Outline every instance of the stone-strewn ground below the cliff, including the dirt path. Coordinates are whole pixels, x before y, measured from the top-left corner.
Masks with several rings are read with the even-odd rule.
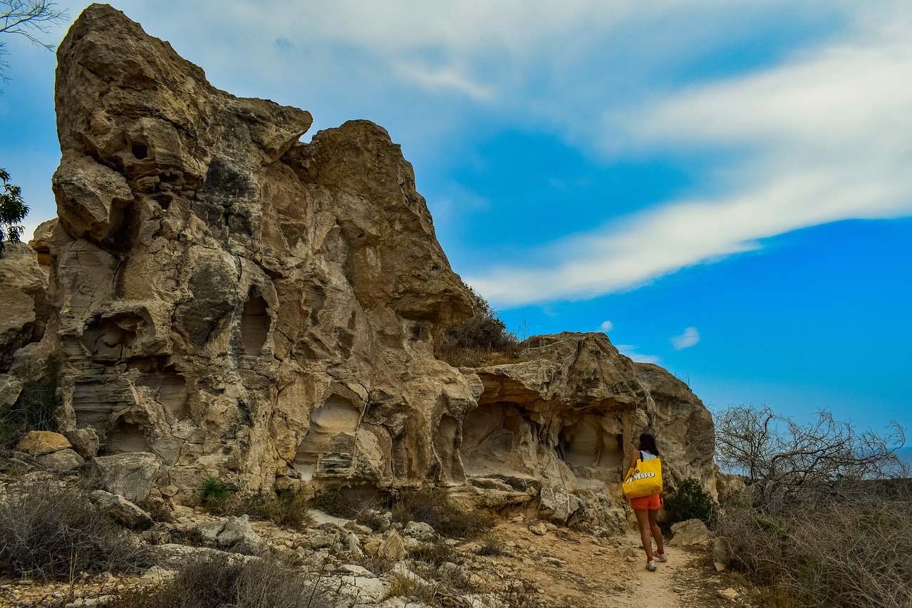
[[[3,491],[15,487],[15,482],[7,484]],[[441,538],[420,522],[388,527],[389,513],[379,511],[375,529],[321,511],[310,514],[308,525],[288,529],[247,516],[178,508],[158,517],[150,529],[133,532],[150,545],[158,564],[141,575],[73,572],[69,580],[55,583],[0,579],[0,606],[119,608],[124,605],[119,596],[131,590],[168,584],[181,561],[223,551],[239,561],[271,555],[294,564],[317,582],[325,602],[320,605],[334,608],[751,605],[750,593],[734,575],[716,571],[705,544],[671,540],[668,562],[647,571],[633,529],[597,535],[513,512],[465,540]]]

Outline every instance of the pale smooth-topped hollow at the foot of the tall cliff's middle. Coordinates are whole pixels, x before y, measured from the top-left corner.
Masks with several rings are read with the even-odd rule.
[[[310,413],[310,428],[295,454],[295,470],[307,481],[321,471],[331,472],[350,466],[361,412],[345,397],[331,395],[326,403]],[[350,448],[349,448],[350,446]]]

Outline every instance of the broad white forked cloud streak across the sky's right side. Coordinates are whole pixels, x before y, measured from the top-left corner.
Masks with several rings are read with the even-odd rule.
[[[714,194],[671,200],[565,238],[546,267],[493,267],[469,281],[503,305],[586,299],[758,247],[764,237],[912,213],[912,9],[861,21],[855,39],[739,78],[610,113],[610,145],[721,152]],[[544,286],[544,288],[543,288]]]

